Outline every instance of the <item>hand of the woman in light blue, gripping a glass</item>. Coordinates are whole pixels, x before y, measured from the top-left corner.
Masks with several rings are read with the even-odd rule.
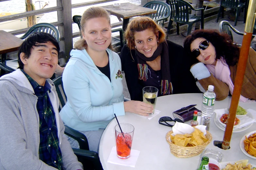
[[[141,101],[126,101],[124,102],[125,112],[136,113],[138,115],[148,116],[152,113],[154,107]]]

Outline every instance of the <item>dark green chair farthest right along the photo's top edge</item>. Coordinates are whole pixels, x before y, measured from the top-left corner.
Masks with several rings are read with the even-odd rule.
[[[234,24],[234,26],[236,26],[240,10],[245,8],[245,4],[240,3],[238,0],[221,0],[220,9],[219,9],[216,22],[219,21],[220,13],[221,13],[221,18],[224,18],[224,7],[236,9],[235,24]]]

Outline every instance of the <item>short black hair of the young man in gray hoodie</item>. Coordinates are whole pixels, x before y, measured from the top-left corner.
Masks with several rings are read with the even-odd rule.
[[[31,49],[33,48],[33,46],[36,47],[37,44],[39,43],[47,43],[47,42],[51,42],[57,48],[58,54],[60,53],[59,43],[51,34],[43,33],[43,32],[35,32],[29,35],[19,47],[19,52],[18,52],[19,67],[18,68],[20,69],[24,68],[24,64],[20,59],[20,54],[22,52],[25,53],[25,59],[29,58],[31,54]]]

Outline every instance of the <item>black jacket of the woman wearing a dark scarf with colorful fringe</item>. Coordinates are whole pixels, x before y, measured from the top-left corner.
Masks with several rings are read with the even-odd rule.
[[[190,58],[184,55],[183,47],[168,40],[167,44],[169,48],[169,64],[173,94],[200,93],[200,90],[196,86],[195,78],[190,72]],[[151,80],[153,81],[148,81],[150,78],[149,75],[147,81],[139,80],[138,63],[135,57],[135,50],[130,50],[127,45],[125,45],[121,51],[121,62],[122,70],[125,72],[126,83],[131,100],[143,101],[143,87],[158,87],[158,81],[161,83],[161,78],[157,78],[158,74],[161,76],[161,73],[156,72],[154,73],[157,75],[156,78],[154,77],[154,74],[152,77],[152,68],[149,65],[148,68],[151,71]],[[158,87],[159,90],[160,88],[161,86]]]

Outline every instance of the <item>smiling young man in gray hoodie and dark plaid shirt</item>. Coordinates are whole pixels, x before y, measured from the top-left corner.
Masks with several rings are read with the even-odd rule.
[[[77,170],[64,136],[59,98],[49,79],[60,47],[47,33],[34,33],[20,46],[19,68],[0,78],[0,169]]]

